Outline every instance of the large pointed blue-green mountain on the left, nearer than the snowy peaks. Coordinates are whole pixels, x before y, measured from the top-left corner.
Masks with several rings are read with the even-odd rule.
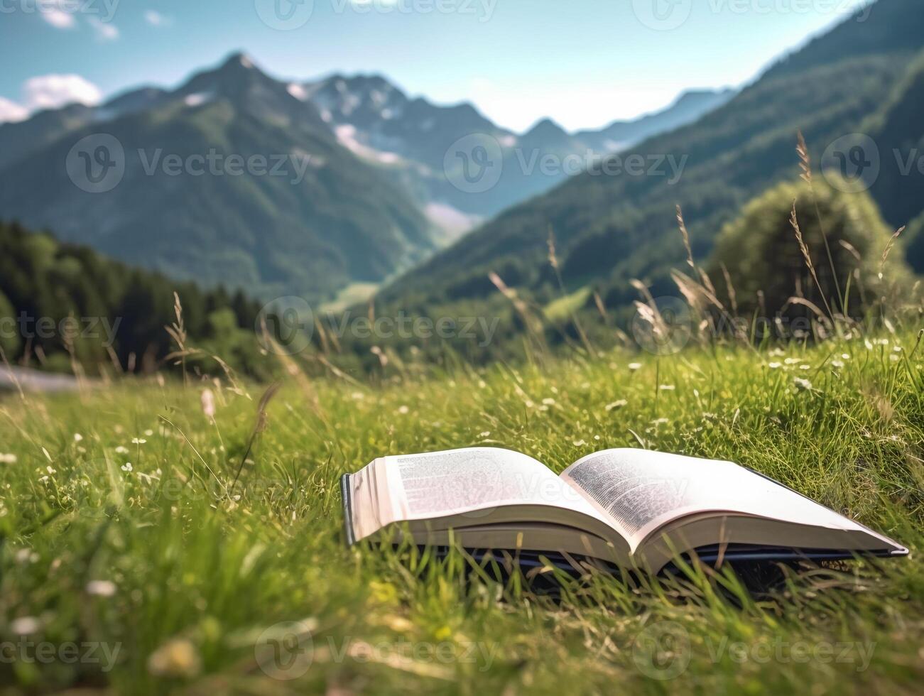
[[[237,54],[173,92],[7,124],[0,142],[30,141],[0,164],[0,217],[265,298],[330,297],[431,253],[405,191],[292,92]]]

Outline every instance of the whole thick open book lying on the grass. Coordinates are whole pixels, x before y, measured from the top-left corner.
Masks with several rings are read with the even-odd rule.
[[[471,447],[375,459],[341,486],[348,543],[396,541],[591,556],[657,572],[720,547],[729,559],[904,556],[907,549],[730,461],[608,449],[556,476],[519,452]]]

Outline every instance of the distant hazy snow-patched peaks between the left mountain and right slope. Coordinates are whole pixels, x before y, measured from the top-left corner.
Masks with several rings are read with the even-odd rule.
[[[412,99],[379,75],[336,74],[298,85],[298,93],[318,107],[342,144],[400,180],[439,224],[439,215],[477,221],[498,214],[552,189],[595,157],[689,123],[732,94],[688,92],[662,112],[599,131],[567,133],[545,118],[517,134],[471,104]],[[465,178],[464,158],[479,146],[492,167],[489,177],[496,172],[491,186],[469,186]],[[463,159],[454,159],[458,152]]]

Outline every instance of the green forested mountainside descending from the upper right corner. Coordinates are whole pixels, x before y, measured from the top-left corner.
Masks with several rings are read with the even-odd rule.
[[[675,204],[683,205],[701,259],[746,201],[798,176],[798,130],[816,176],[819,163],[831,165],[838,157],[866,162],[866,153],[844,140],[862,128],[885,145],[879,148],[883,169],[894,167],[890,148],[913,148],[924,133],[921,73],[908,74],[924,48],[924,14],[903,0],[879,0],[868,11],[866,21],[858,13],[785,56],[699,121],[609,158],[609,174],[571,177],[505,211],[380,297],[428,312],[460,301],[478,311],[496,295],[487,280],[495,271],[521,295],[549,301],[557,293],[547,258],[550,227],[569,290],[597,287],[607,306],[622,306],[637,298],[629,280],[638,277],[650,281],[656,295],[675,294],[668,272],[686,256]],[[879,119],[870,124],[873,116]],[[875,123],[879,130],[872,130]],[[643,166],[630,170],[632,161]],[[916,185],[919,177],[884,175],[871,189],[891,225],[905,225],[924,209]]]

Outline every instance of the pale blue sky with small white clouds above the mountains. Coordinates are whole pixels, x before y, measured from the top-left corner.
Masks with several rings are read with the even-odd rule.
[[[543,116],[565,128],[596,128],[661,108],[687,88],[747,82],[865,5],[0,0],[0,118],[140,84],[176,85],[244,50],[280,78],[377,72],[438,103],[471,101],[507,128]]]

